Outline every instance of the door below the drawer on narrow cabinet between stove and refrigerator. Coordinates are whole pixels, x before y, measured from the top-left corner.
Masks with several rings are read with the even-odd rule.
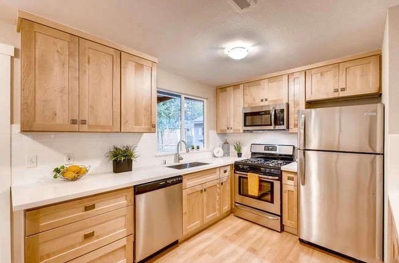
[[[283,188],[283,224],[297,228],[298,218],[298,188],[292,185],[282,185]]]

